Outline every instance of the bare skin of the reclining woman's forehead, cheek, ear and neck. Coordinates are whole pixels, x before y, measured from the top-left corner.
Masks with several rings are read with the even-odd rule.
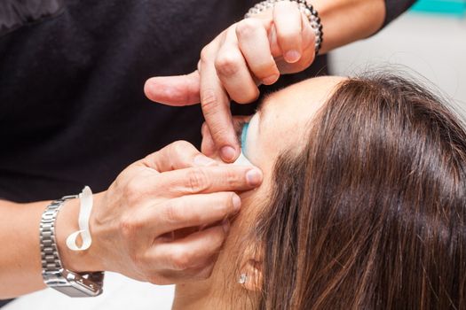
[[[261,202],[267,197],[272,182],[272,168],[275,159],[281,151],[304,146],[303,136],[306,135],[312,117],[325,105],[336,85],[344,81],[342,77],[320,77],[289,86],[282,89],[265,101],[254,117],[258,121],[249,125],[248,156],[249,160],[264,172],[264,182],[257,188],[241,194],[242,211],[232,223],[231,231],[225,241],[225,248],[220,252],[216,267],[211,277],[200,283],[178,284],[173,309],[223,309],[228,306],[247,305],[242,298],[234,298],[238,304],[231,304],[233,293],[244,297],[245,291],[256,292],[260,287],[260,267],[250,267],[250,261],[260,265],[257,252],[245,249],[244,244],[251,240],[244,236],[245,232],[254,227],[255,219],[261,212]],[[239,246],[240,244],[240,246]],[[234,267],[239,263],[239,273],[234,273]],[[252,272],[251,272],[252,270]],[[233,271],[233,272],[232,272]],[[248,283],[238,284],[241,273],[248,274]],[[230,284],[225,292],[225,282]],[[245,308],[249,308],[246,306]]]

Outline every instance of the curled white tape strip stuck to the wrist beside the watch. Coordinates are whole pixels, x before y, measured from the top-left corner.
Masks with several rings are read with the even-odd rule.
[[[84,251],[89,249],[92,243],[91,232],[89,231],[89,218],[92,211],[92,191],[89,186],[84,187],[81,194],[79,194],[80,209],[79,209],[79,229],[67,237],[67,247],[72,251]],[[76,244],[77,237],[81,234],[83,244],[78,246]]]

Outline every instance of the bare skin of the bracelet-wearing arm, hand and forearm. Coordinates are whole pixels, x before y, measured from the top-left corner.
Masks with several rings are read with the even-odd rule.
[[[314,0],[324,41],[320,54],[373,35],[383,25],[383,0]],[[201,104],[211,147],[225,162],[240,154],[230,100],[257,99],[260,84],[270,85],[280,74],[301,72],[315,57],[314,33],[296,3],[280,2],[272,10],[243,19],[225,29],[201,50],[192,74],[154,77],[146,81],[146,96],[166,105]]]

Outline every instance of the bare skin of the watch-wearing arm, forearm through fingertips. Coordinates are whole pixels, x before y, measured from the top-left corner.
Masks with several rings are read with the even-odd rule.
[[[92,244],[84,252],[65,245],[78,230],[79,213],[78,199],[67,201],[56,221],[62,265],[158,284],[205,279],[230,229],[228,218],[241,208],[235,191],[251,190],[261,181],[256,167],[220,167],[190,143],[171,143],[127,167],[108,190],[94,195]],[[0,298],[44,288],[39,222],[49,203],[0,200]]]

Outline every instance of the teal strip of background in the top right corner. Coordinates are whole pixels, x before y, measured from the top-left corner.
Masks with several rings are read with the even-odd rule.
[[[411,12],[428,12],[466,16],[466,0],[419,0]]]

